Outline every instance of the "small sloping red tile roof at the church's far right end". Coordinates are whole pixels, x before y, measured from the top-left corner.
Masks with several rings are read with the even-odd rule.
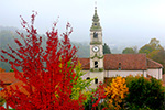
[[[147,68],[162,68],[163,65],[147,58]]]

